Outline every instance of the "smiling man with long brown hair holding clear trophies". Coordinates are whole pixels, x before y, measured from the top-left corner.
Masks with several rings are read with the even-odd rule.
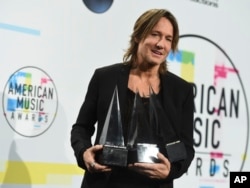
[[[169,72],[166,63],[169,52],[177,49],[178,40],[179,29],[173,14],[165,9],[148,10],[134,25],[124,62],[94,72],[71,131],[78,165],[85,170],[83,188],[173,188],[174,179],[187,171],[194,157],[193,87]],[[157,162],[128,161],[126,167],[120,167],[98,161],[97,155],[103,149],[99,140],[115,88],[118,88],[125,143],[130,141],[135,96],[139,96],[143,104],[140,120],[149,122],[153,91],[160,106],[155,114],[159,121],[151,124],[147,132],[148,127],[138,120],[140,137],[137,135],[135,143],[156,145],[159,148]],[[164,121],[160,121],[161,118]],[[95,123],[96,140],[91,143]],[[153,139],[149,139],[149,135],[153,135]],[[135,148],[138,145],[135,144]]]

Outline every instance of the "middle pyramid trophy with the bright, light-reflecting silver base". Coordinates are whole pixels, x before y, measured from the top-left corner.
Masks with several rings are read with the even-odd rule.
[[[149,100],[150,102],[150,100]],[[149,111],[148,111],[149,110]],[[142,98],[136,93],[132,109],[130,130],[128,136],[128,163],[158,162],[156,135],[152,126],[152,111],[145,108]]]

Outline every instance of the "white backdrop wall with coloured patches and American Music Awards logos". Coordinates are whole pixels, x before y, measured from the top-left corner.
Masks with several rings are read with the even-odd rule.
[[[196,157],[175,187],[228,188],[230,171],[250,171],[249,7],[248,0],[114,0],[106,12],[94,13],[81,0],[0,0],[1,186],[80,186],[84,171],[69,139],[89,79],[95,68],[122,61],[141,13],[166,8],[179,22],[181,54],[191,54],[188,62],[169,59],[169,69],[196,84],[195,118],[202,122],[195,126]],[[10,83],[32,87],[12,90]],[[213,105],[209,86],[217,94]],[[34,98],[30,108],[20,103],[21,110],[10,110],[21,96]],[[221,113],[209,114],[212,106]]]

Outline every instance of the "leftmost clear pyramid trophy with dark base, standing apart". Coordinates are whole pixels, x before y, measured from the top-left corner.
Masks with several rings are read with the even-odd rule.
[[[117,87],[114,90],[99,143],[103,150],[99,162],[110,166],[127,166],[127,148],[124,144]]]

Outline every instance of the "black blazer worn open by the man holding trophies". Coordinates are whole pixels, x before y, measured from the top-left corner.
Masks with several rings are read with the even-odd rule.
[[[95,144],[98,143],[116,86],[118,87],[121,116],[124,114],[123,110],[126,105],[129,71],[130,66],[122,63],[96,69],[90,80],[77,121],[72,126],[71,145],[78,166],[85,169],[84,183],[82,186],[84,188],[102,187],[108,179],[108,175],[105,174],[90,174],[86,169],[82,156],[83,152],[92,146],[91,137],[95,132],[95,123],[97,123]],[[187,158],[183,161],[172,163],[168,178],[162,181],[162,188],[170,188],[172,187],[173,179],[183,175],[194,158],[194,98],[192,85],[171,72],[161,75],[161,86],[163,92],[162,106],[175,133],[185,144],[187,151]],[[98,181],[98,179],[100,181]]]

